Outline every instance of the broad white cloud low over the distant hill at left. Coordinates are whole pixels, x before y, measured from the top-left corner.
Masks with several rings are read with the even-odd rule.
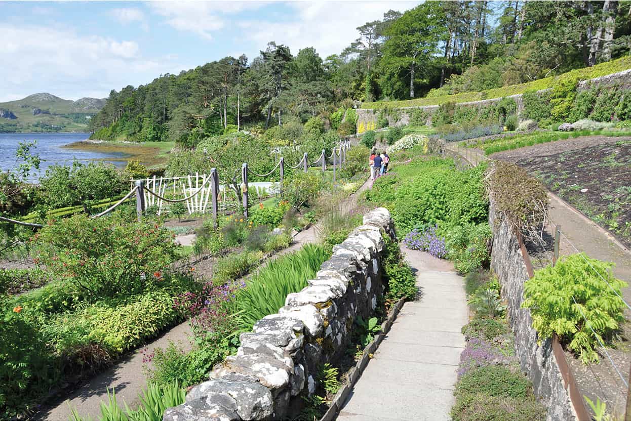
[[[0,23],[0,100],[49,91],[62,98],[105,97],[112,88],[182,70],[172,59],[142,57],[134,41],[82,37],[45,26]]]

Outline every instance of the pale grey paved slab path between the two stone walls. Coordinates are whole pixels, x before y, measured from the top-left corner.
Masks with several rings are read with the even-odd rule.
[[[450,262],[402,247],[421,297],[407,302],[338,420],[446,420],[468,322],[463,278]]]

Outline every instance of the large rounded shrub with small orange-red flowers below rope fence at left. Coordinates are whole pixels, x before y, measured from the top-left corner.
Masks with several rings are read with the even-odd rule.
[[[40,262],[88,300],[138,293],[177,258],[174,235],[157,223],[114,214],[76,215],[35,234]],[[144,275],[143,275],[144,274]]]

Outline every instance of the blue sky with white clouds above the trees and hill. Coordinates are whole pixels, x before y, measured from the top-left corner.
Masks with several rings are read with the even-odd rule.
[[[76,100],[143,85],[269,41],[322,59],[357,26],[421,1],[0,1],[0,102],[49,92]]]

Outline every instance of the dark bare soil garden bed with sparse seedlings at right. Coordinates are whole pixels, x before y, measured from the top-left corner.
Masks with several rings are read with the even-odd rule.
[[[504,151],[551,192],[631,248],[631,139],[586,136]]]

